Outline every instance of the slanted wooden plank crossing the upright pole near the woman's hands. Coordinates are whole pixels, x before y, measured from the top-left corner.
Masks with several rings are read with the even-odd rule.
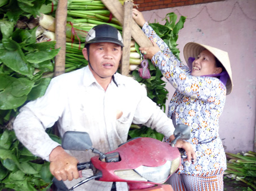
[[[118,0],[101,0],[108,8],[109,11],[112,12],[114,17],[117,18],[119,22],[124,26],[124,16],[123,16],[123,6]],[[140,29],[139,25],[131,19],[131,37],[139,44],[140,47],[152,47],[152,42],[148,39],[148,37],[143,33],[142,29]]]

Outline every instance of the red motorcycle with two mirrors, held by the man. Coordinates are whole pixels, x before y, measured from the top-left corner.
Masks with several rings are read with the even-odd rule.
[[[172,146],[157,139],[139,137],[121,144],[114,151],[102,153],[92,147],[89,134],[67,131],[63,136],[64,149],[76,151],[91,149],[93,153],[99,154],[92,157],[89,162],[78,163],[78,170],[91,169],[94,175],[69,190],[92,179],[126,182],[129,190],[133,191],[173,190],[171,185],[163,184],[180,166],[180,150],[173,145],[178,139],[189,139],[190,128],[178,124],[174,135]]]

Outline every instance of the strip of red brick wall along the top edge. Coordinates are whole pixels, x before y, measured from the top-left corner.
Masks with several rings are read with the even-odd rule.
[[[150,11],[161,8],[179,7],[191,4],[209,3],[223,0],[134,0],[134,4],[139,4],[139,11]]]

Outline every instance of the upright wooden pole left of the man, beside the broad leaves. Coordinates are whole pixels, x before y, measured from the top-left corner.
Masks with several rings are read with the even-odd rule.
[[[54,77],[65,73],[67,9],[68,0],[59,0],[55,17],[55,48],[60,48],[60,51],[55,56]]]

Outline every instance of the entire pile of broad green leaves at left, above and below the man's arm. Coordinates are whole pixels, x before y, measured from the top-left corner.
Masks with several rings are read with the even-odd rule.
[[[33,156],[8,130],[19,108],[45,94],[52,78],[59,49],[54,41],[37,39],[35,19],[55,10],[54,3],[45,2],[0,1],[0,190],[46,190],[52,184],[49,163]]]

